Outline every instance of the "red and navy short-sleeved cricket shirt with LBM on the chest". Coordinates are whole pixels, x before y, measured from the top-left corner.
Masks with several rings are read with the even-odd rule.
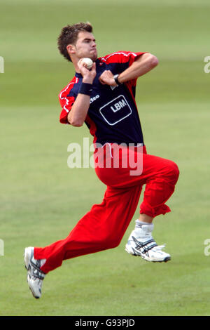
[[[90,107],[85,124],[94,136],[94,143],[142,143],[141,123],[135,102],[137,79],[119,86],[103,85],[99,77],[105,70],[120,74],[144,53],[119,51],[96,60],[97,75],[92,84]],[[83,76],[76,73],[70,83],[59,93],[62,112],[59,121],[69,124],[67,117],[78,95]]]

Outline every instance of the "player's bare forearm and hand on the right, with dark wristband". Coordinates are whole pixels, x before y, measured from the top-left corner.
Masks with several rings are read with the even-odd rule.
[[[158,65],[158,58],[151,53],[144,53],[137,60],[135,60],[130,67],[121,72],[118,76],[118,81],[123,84],[126,81],[137,79],[147,72],[153,70]],[[113,78],[113,74],[110,70],[106,70],[99,77],[99,81],[102,84],[116,86],[116,81]]]

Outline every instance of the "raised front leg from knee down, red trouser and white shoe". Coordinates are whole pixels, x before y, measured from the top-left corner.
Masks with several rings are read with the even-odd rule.
[[[140,213],[153,219],[155,216],[171,211],[165,202],[174,192],[174,187],[179,178],[179,169],[174,161],[151,156],[146,156],[146,159],[149,159],[148,167],[150,171],[153,164],[155,164],[155,168],[151,171],[150,176],[146,171],[143,173],[143,176],[147,176],[147,179]],[[136,227],[125,246],[125,251],[133,256],[141,256],[147,261],[166,262],[170,260],[169,253],[162,251],[165,245],[159,246],[153,239],[152,232],[152,223],[141,223],[137,220]]]

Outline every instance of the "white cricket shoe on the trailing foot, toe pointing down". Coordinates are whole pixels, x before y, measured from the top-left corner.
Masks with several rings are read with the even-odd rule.
[[[29,246],[24,251],[25,268],[27,269],[27,282],[29,289],[34,298],[41,297],[41,287],[45,273],[41,271],[41,266],[45,263],[46,259],[34,259],[34,247]]]

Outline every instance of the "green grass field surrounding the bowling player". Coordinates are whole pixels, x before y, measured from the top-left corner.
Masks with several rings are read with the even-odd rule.
[[[200,1],[1,0],[0,315],[210,315],[209,9]],[[139,78],[137,103],[148,153],[176,161],[172,213],[154,220],[167,243],[165,264],[116,249],[64,261],[36,301],[23,265],[25,246],[69,235],[105,186],[94,169],[69,169],[67,145],[89,136],[59,124],[59,91],[73,67],[57,51],[66,24],[94,26],[99,55],[149,51],[159,65]],[[141,202],[142,196],[139,202]]]

